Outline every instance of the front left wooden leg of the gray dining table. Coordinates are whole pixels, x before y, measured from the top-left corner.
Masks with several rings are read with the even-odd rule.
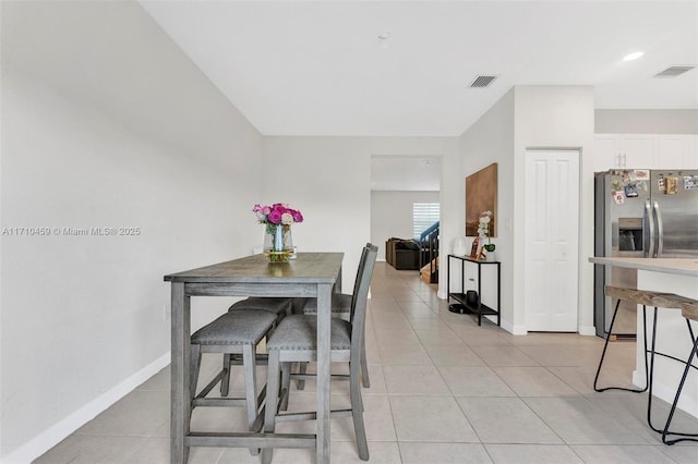
[[[189,448],[191,393],[189,386],[189,337],[191,332],[191,297],[184,294],[184,283],[172,282],[171,386],[170,386],[170,463],[184,464]]]

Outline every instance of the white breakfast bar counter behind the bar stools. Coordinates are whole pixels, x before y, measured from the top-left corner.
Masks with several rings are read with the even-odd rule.
[[[637,288],[658,292],[675,293],[689,298],[698,298],[698,259],[696,258],[624,258],[592,257],[589,261],[597,265],[616,266],[637,269]],[[648,308],[648,337],[651,337],[652,316]],[[657,349],[685,359],[693,343],[686,329],[686,320],[681,310],[666,309],[659,312],[657,327]],[[642,312],[637,312],[637,333],[642,333]],[[698,333],[694,326],[694,331]],[[633,382],[645,384],[645,353],[641,343],[637,344],[637,364],[633,373]],[[659,356],[654,366],[654,394],[671,404],[676,386],[684,370],[684,365]],[[693,369],[691,369],[693,370]],[[690,373],[684,387],[678,407],[698,417],[698,375]]]

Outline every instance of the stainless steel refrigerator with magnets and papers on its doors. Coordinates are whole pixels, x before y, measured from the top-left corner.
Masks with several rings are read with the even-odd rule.
[[[594,256],[698,257],[698,170],[624,169],[594,174]],[[637,270],[594,265],[594,325],[605,337],[606,284],[636,286]],[[614,334],[635,337],[635,306],[621,304]]]

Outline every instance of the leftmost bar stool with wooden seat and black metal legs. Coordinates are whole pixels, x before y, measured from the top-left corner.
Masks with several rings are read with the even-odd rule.
[[[650,290],[638,290],[638,289],[628,289],[628,288],[623,288],[623,286],[612,286],[612,285],[606,285],[605,286],[605,294],[611,296],[612,298],[616,298],[616,305],[615,305],[615,310],[613,312],[613,318],[611,319],[611,327],[609,327],[609,334],[606,335],[606,340],[605,343],[603,345],[603,352],[601,354],[601,359],[599,361],[599,367],[597,368],[597,376],[593,380],[593,389],[598,392],[603,392],[606,390],[624,390],[624,391],[629,391],[633,393],[642,393],[645,391],[648,390],[649,388],[649,392],[648,392],[648,399],[647,399],[647,424],[649,425],[649,427],[657,431],[657,432],[662,432],[662,429],[654,427],[652,425],[652,383],[653,383],[653,377],[654,377],[654,356],[655,355],[660,355],[660,356],[664,356],[674,361],[677,361],[679,363],[683,363],[683,359],[679,359],[675,356],[669,355],[666,353],[661,353],[657,351],[657,320],[658,320],[658,312],[659,308],[663,308],[663,309],[681,309],[682,305],[685,303],[690,303],[694,302],[690,298],[687,298],[685,296],[681,296],[681,295],[676,295],[673,293],[663,293],[663,292],[655,292],[655,291],[650,291]],[[635,303],[636,305],[642,305],[642,332],[643,332],[643,350],[645,350],[645,387],[641,389],[629,389],[629,388],[624,388],[624,387],[605,387],[605,388],[599,388],[598,387],[598,382],[599,382],[599,375],[601,374],[601,367],[603,366],[603,361],[605,358],[605,354],[606,354],[606,349],[609,346],[609,340],[611,339],[611,335],[613,333],[613,325],[615,322],[615,317],[618,313],[618,307],[621,305],[621,301],[627,301],[627,302],[631,302]],[[650,350],[647,350],[647,322],[646,322],[646,315],[647,315],[647,306],[653,306],[654,307],[654,314],[653,314],[653,318],[652,318],[652,344]],[[695,337],[694,337],[694,332],[693,329],[690,327],[690,323],[688,325],[688,333],[690,334],[690,340],[691,342],[695,341]],[[648,362],[647,362],[647,354],[650,354],[650,362],[649,362],[649,367],[648,367]]]

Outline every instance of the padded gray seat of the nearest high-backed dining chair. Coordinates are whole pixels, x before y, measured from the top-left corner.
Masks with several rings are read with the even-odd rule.
[[[351,349],[351,323],[332,318],[332,350]],[[317,317],[313,315],[287,316],[266,341],[267,350],[305,351],[317,349]]]

